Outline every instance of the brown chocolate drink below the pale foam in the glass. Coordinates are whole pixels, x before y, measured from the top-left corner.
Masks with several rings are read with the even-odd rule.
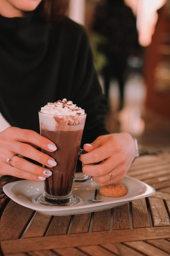
[[[50,195],[65,196],[71,192],[82,133],[83,130],[41,130],[41,135],[49,138],[57,146],[55,152],[43,150],[57,162],[55,167],[47,167],[53,173],[44,182],[45,191]]]

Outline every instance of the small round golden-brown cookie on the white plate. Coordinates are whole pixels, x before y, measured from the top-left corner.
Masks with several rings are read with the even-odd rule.
[[[107,186],[102,186],[99,190],[101,195],[110,197],[119,197],[127,194],[126,187],[121,183],[113,183]]]

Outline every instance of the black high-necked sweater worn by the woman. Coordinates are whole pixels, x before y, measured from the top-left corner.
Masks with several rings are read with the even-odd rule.
[[[87,113],[82,143],[106,134],[102,95],[84,28],[65,17],[49,27],[39,9],[0,16],[0,112],[11,126],[39,132],[38,110],[66,98]]]

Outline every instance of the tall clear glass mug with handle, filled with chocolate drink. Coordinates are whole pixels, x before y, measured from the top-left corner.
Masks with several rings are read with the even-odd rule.
[[[46,205],[73,205],[80,200],[72,193],[73,182],[85,182],[91,177],[75,177],[75,169],[86,121],[86,114],[78,116],[51,115],[39,111],[40,134],[55,143],[57,150],[42,150],[55,159],[57,165],[49,168],[52,175],[44,180],[44,192],[37,202]],[[45,166],[44,166],[45,167]]]

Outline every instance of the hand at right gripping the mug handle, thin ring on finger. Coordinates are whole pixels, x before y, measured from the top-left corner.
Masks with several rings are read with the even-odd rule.
[[[136,152],[135,141],[126,132],[99,136],[93,143],[84,144],[84,150],[88,153],[80,156],[82,171],[92,176],[99,186],[122,180]],[[98,162],[100,164],[93,164]]]

